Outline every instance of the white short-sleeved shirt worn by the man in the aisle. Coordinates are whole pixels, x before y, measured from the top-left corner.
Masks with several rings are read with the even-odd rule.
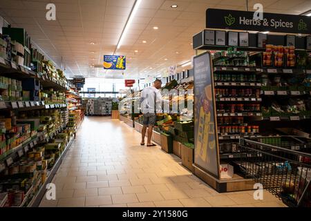
[[[140,108],[142,113],[162,113],[162,95],[160,90],[153,86],[144,88],[140,97]]]

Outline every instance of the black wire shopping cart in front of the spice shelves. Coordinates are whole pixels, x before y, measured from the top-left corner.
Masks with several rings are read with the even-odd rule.
[[[311,207],[311,144],[293,136],[241,139],[238,163],[245,178],[263,185],[288,206]]]

